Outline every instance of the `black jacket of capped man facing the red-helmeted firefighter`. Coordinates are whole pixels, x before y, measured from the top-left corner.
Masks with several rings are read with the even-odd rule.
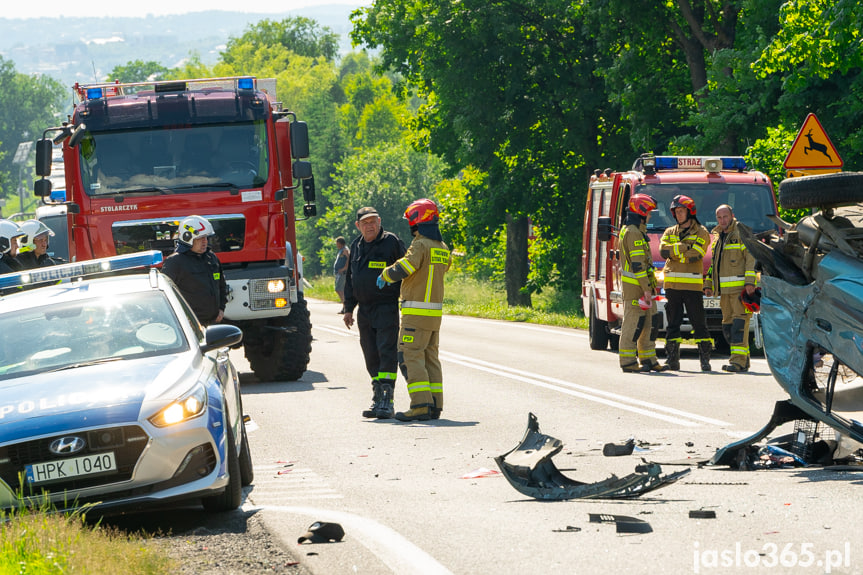
[[[405,255],[405,244],[393,233],[381,228],[371,242],[360,235],[351,242],[351,261],[345,275],[345,311],[353,313],[357,304],[365,306],[399,301],[399,284],[378,289],[375,282],[381,272]]]

